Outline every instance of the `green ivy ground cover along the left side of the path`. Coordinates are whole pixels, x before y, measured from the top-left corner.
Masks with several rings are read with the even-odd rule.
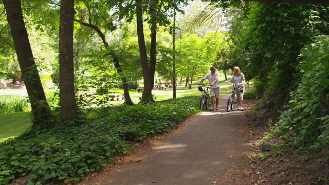
[[[198,97],[111,107],[106,118],[57,123],[0,143],[0,184],[28,175],[28,184],[80,180],[130,150],[131,141],[170,130],[199,112]]]

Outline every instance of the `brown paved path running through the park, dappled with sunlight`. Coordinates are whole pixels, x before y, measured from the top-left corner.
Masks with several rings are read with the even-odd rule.
[[[138,161],[114,172],[95,174],[81,184],[222,184],[223,176],[233,173],[232,169],[243,172],[251,146],[238,131],[242,112],[234,109],[227,113],[226,98],[221,99],[220,110],[190,119],[187,126],[173,131],[162,144],[140,154]]]

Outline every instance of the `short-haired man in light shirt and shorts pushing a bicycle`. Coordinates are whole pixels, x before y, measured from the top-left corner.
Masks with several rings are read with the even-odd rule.
[[[220,102],[220,84],[218,83],[218,72],[216,72],[216,68],[214,66],[210,67],[210,72],[202,79],[200,80],[200,83],[202,83],[204,80],[208,79],[210,83],[210,96],[211,96],[211,108],[210,111],[215,110],[214,107],[214,97],[216,97],[216,110],[218,110],[218,103]]]

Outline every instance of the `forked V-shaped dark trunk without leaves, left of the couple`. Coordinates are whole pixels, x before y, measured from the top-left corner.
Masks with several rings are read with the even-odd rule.
[[[151,34],[151,63],[149,67],[149,60],[147,56],[147,49],[145,46],[145,39],[144,39],[144,30],[143,30],[143,12],[140,5],[139,0],[136,0],[136,21],[137,21],[137,36],[138,36],[138,46],[139,46],[139,54],[140,54],[140,63],[142,66],[142,73],[143,73],[143,79],[144,79],[144,91],[142,94],[142,102],[154,102],[152,97],[152,88],[153,88],[153,81],[154,81],[154,69],[151,69],[151,67],[155,68],[155,47],[156,46],[156,30],[152,30]],[[154,28],[152,21],[152,28]],[[155,32],[155,33],[154,33]],[[153,78],[152,78],[152,72],[153,72]]]

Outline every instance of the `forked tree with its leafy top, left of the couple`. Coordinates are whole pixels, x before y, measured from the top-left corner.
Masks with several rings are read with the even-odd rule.
[[[134,2],[125,2],[124,4],[120,4],[118,2],[117,9],[119,10],[118,14],[120,14],[120,16],[127,17],[127,21],[131,21],[136,15],[140,63],[144,80],[142,102],[154,102],[152,97],[152,88],[154,85],[154,74],[156,66],[157,28],[158,26],[170,25],[171,23],[168,18],[173,16],[173,14],[168,14],[168,10],[175,9],[182,12],[179,6],[180,4],[186,4],[187,1],[136,0]],[[146,19],[143,17],[144,13],[147,15]],[[147,22],[151,29],[151,45],[149,55],[147,46],[145,44],[143,25],[144,22]]]

